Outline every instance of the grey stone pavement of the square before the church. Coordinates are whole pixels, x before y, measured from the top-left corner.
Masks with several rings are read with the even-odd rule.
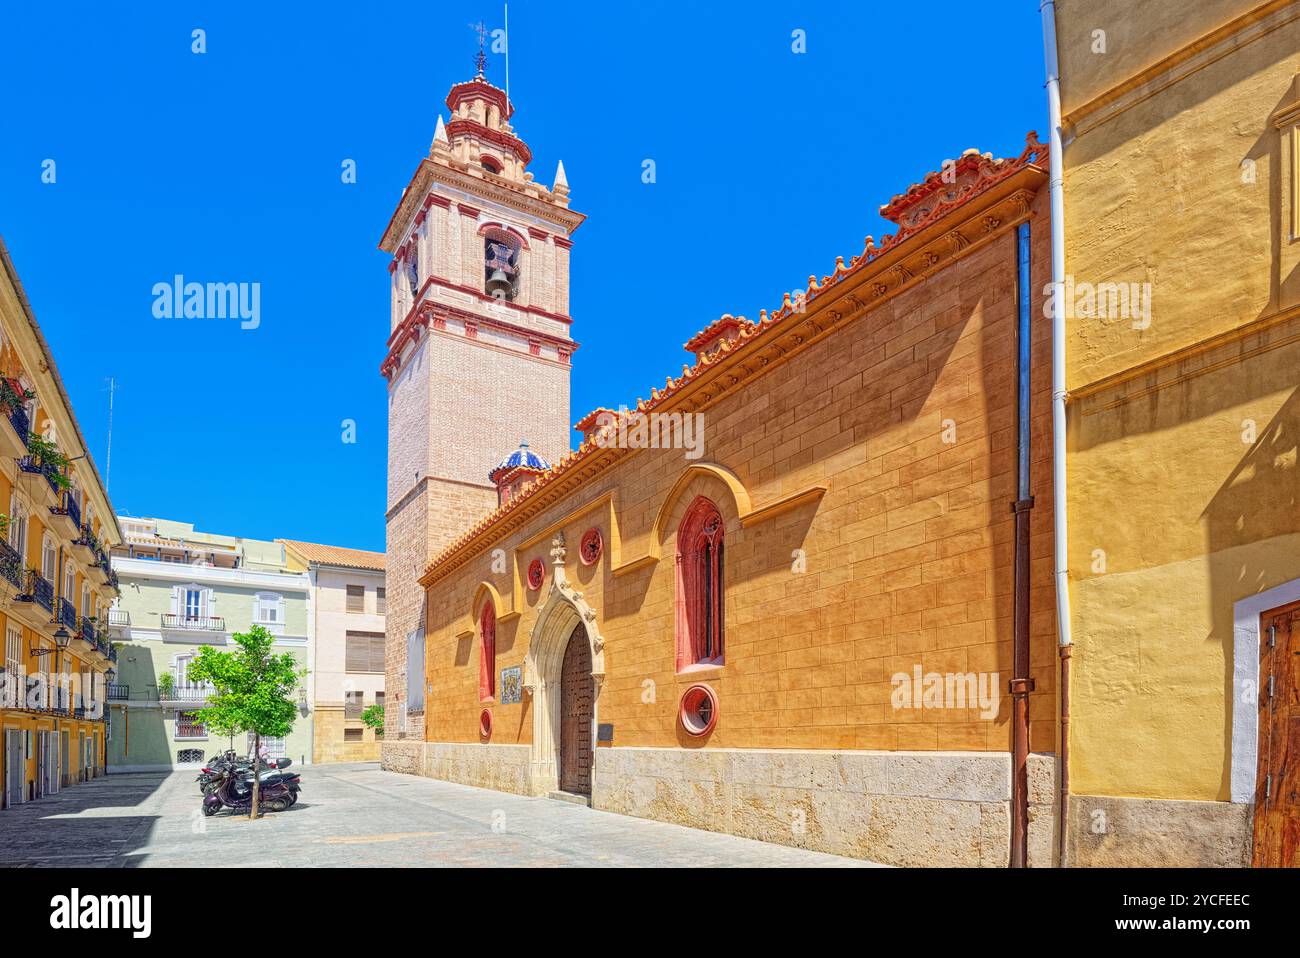
[[[452,785],[308,766],[289,811],[199,811],[195,772],[110,775],[0,811],[3,867],[855,867],[850,858]]]

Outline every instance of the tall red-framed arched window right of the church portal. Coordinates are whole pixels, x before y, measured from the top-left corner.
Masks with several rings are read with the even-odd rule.
[[[697,497],[677,529],[677,671],[723,664],[723,516]]]

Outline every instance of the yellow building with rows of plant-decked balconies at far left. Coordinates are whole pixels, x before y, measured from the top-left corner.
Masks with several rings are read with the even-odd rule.
[[[121,541],[108,495],[0,243],[0,770],[4,807],[105,768]],[[38,437],[32,439],[31,437]]]

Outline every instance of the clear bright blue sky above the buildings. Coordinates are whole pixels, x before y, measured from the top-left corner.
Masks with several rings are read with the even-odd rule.
[[[289,6],[6,12],[0,234],[101,473],[117,381],[120,512],[380,550],[377,243],[448,87],[473,74],[468,25],[502,26],[502,5]],[[563,160],[589,216],[572,420],[647,396],[694,331],[775,308],[892,231],[880,204],[945,157],[1045,136],[1036,3],[805,6],[510,4],[529,169],[550,185]],[[488,77],[504,84],[502,56]],[[177,273],[261,283],[260,326],[155,318],[151,290]]]

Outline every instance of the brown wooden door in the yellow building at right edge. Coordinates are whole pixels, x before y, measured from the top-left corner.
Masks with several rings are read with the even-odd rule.
[[[1300,602],[1261,616],[1254,864],[1300,867]]]

